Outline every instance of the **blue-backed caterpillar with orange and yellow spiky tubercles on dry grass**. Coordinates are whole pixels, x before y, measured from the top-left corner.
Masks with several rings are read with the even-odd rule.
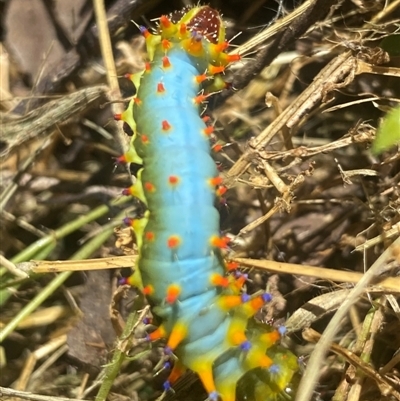
[[[143,166],[124,191],[146,206],[129,220],[139,249],[129,283],[162,321],[148,340],[165,339],[165,355],[176,358],[164,388],[190,369],[212,401],[235,401],[237,387],[247,400],[287,397],[298,364],[278,345],[284,330],[250,319],[271,296],[243,292],[246,277],[221,256],[227,240],[215,200],[225,189],[202,105],[225,87],[225,68],[239,57],[225,52],[223,21],[209,6],[162,16],[155,34],[140,31],[148,61],[129,76],[137,92],[116,119],[133,131],[121,161]]]

